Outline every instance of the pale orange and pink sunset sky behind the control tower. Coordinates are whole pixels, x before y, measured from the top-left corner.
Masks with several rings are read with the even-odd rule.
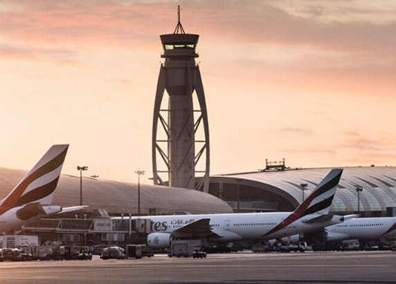
[[[0,167],[69,143],[63,173],[152,177],[162,52],[197,52],[211,174],[396,166],[396,1],[0,1]]]

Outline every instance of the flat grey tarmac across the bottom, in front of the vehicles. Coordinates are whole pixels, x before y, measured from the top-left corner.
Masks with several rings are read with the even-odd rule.
[[[396,252],[238,252],[207,258],[0,263],[1,282],[20,283],[396,283]]]

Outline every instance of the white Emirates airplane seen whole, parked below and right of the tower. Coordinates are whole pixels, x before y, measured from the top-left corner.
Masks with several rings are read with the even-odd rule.
[[[172,240],[208,242],[269,240],[342,223],[347,216],[329,214],[342,169],[333,169],[294,212],[143,216],[150,222],[147,245],[170,247]]]

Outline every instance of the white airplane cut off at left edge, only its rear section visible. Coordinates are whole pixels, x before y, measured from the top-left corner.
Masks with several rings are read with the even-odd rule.
[[[0,201],[0,233],[85,206],[63,208],[51,205],[69,145],[53,145],[35,167]]]

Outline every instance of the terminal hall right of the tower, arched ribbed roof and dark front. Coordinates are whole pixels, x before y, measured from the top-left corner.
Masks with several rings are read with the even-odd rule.
[[[212,176],[209,193],[226,200],[234,211],[293,211],[330,170],[280,169]],[[347,167],[330,210],[344,215],[393,216],[395,207],[396,167]]]

